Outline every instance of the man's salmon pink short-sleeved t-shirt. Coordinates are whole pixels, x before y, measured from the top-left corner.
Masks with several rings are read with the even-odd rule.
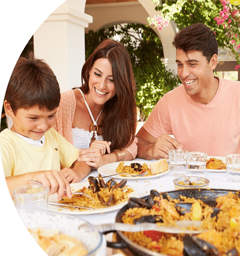
[[[143,127],[156,139],[174,135],[189,152],[240,154],[240,82],[219,78],[208,104],[195,102],[181,84],[163,95]]]

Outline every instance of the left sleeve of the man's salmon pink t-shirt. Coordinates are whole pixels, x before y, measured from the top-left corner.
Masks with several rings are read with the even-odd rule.
[[[163,134],[172,134],[167,97],[165,95],[158,101],[143,124],[143,128],[156,139]]]

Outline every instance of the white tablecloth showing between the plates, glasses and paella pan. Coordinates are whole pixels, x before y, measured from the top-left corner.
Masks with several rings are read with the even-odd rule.
[[[133,162],[138,161],[144,161],[145,163],[153,162],[156,160],[143,160],[136,158],[133,160]],[[97,170],[92,170],[87,177],[85,177],[82,182],[87,181],[89,176],[98,176]],[[104,177],[104,176],[103,176]],[[124,177],[123,177],[124,178]],[[123,179],[122,178],[122,179]],[[150,195],[151,189],[156,189],[158,192],[166,192],[166,191],[173,191],[174,183],[173,179],[175,179],[175,176],[172,176],[170,172],[166,172],[164,175],[155,177],[148,176],[148,178],[144,179],[127,179],[127,185],[132,187],[134,191],[137,191],[138,197],[141,198],[146,195]],[[240,189],[240,182],[230,182],[227,180],[226,170],[222,171],[214,171],[214,170],[206,170],[205,171],[205,178],[209,179],[209,188],[212,189],[233,189],[233,190],[239,190]],[[115,177],[116,181],[121,181],[121,179],[118,179]],[[90,224],[97,225],[97,224],[104,224],[104,223],[114,223],[115,217],[117,215],[119,209],[113,210],[110,212],[103,212],[98,214],[85,214],[85,215],[75,215],[75,217],[79,217]],[[113,236],[113,233],[109,233],[106,236],[106,240],[112,241],[115,236]],[[127,252],[126,252],[127,251]],[[119,249],[106,249],[106,256],[122,256],[122,255],[134,255],[132,252],[128,250],[119,250]]]

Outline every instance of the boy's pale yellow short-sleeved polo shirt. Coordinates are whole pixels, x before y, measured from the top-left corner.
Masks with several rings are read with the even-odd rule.
[[[41,170],[71,167],[78,158],[74,147],[56,130],[45,133],[45,145],[33,146],[9,129],[0,133],[0,150],[5,177]]]

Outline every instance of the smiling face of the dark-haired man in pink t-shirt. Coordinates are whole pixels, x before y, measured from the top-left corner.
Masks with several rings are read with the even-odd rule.
[[[216,58],[216,54],[212,58]],[[207,58],[200,51],[185,53],[177,49],[177,75],[181,79],[185,91],[193,100],[211,86],[213,79],[212,59],[208,63]]]

